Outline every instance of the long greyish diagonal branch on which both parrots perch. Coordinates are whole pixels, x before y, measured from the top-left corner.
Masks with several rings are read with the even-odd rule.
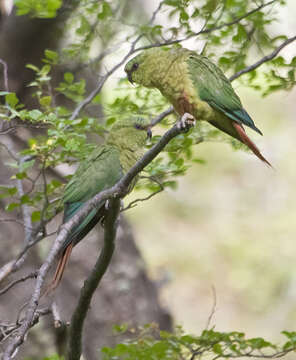
[[[7,346],[4,352],[3,360],[11,360],[15,350],[24,342],[24,338],[30,328],[30,324],[33,321],[34,314],[36,313],[38,307],[41,288],[44,283],[45,276],[48,273],[49,268],[52,265],[57,254],[59,253],[60,249],[62,248],[68,233],[99,203],[106,201],[110,198],[124,197],[128,193],[129,184],[134,179],[134,177],[137,176],[145,168],[145,166],[147,166],[174,137],[181,134],[183,131],[184,130],[182,130],[178,126],[178,124],[175,124],[161,137],[158,143],[156,143],[144,154],[144,156],[125,174],[125,176],[121,178],[120,181],[118,181],[117,184],[115,184],[110,189],[98,193],[94,198],[89,200],[85,204],[85,206],[73,216],[71,220],[63,224],[46,260],[41,265],[38,271],[35,288],[29,301],[24,322],[19,329],[18,335]]]

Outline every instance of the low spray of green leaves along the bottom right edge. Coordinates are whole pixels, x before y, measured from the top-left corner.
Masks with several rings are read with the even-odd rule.
[[[129,341],[101,349],[104,360],[173,360],[279,358],[296,350],[295,332],[283,331],[286,341],[276,345],[263,338],[247,338],[242,332],[203,330],[199,336],[186,334],[181,327],[175,333],[159,331],[150,324],[127,329]]]

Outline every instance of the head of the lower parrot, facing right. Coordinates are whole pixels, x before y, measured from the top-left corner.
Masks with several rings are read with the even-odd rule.
[[[151,138],[150,122],[139,117],[122,118],[112,126],[107,142],[119,147],[142,148]]]

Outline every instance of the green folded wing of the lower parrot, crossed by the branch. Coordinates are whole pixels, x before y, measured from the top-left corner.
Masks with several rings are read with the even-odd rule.
[[[119,150],[113,146],[96,148],[78,167],[64,192],[64,221],[71,219],[85,202],[98,192],[115,185],[123,176]],[[104,204],[99,204],[67,237],[63,249],[76,245],[102,218]]]

